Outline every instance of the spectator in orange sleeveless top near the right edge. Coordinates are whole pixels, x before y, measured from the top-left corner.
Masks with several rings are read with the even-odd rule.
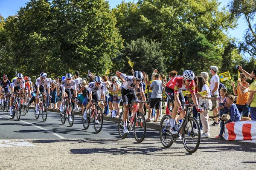
[[[243,73],[240,74],[240,79],[241,79],[241,85],[246,88],[249,88],[250,85],[249,85],[249,83],[246,82],[247,77],[245,77],[245,75]],[[242,116],[248,117],[249,109],[246,108],[246,104],[248,101],[249,92],[243,93],[243,91],[241,91],[241,88],[239,88],[239,85],[237,85],[237,87],[235,87],[234,82],[231,82],[231,85],[233,86],[234,94],[237,95],[236,107],[238,108],[238,110]]]

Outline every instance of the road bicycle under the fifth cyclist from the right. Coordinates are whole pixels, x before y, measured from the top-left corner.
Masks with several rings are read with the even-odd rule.
[[[38,106],[38,111],[39,111],[39,114],[36,114],[36,105],[35,104],[35,109],[34,109],[34,112],[35,112],[35,119],[38,119],[40,115],[42,115],[42,119],[43,121],[45,122],[46,119],[47,119],[47,114],[48,114],[48,109],[47,109],[47,103],[44,99],[44,96],[51,96],[51,94],[39,94],[39,106]]]

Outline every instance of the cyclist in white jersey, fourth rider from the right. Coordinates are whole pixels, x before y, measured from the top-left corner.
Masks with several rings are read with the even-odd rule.
[[[61,113],[64,111],[63,110],[63,104],[64,104],[64,97],[65,97],[65,92],[67,93],[67,96],[72,97],[72,94],[74,94],[75,97],[77,97],[77,92],[76,92],[76,82],[75,80],[72,79],[73,75],[70,73],[67,73],[65,75],[65,79],[62,80],[61,82],[61,89],[62,89],[62,102],[60,106],[60,111]],[[74,99],[76,101],[76,98]],[[71,116],[69,116],[69,121],[72,122]]]

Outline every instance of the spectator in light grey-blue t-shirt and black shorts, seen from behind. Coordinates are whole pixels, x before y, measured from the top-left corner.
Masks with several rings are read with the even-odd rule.
[[[155,75],[155,81],[150,84],[149,90],[152,91],[150,98],[150,108],[155,108],[157,110],[157,116],[153,122],[158,122],[158,117],[160,115],[160,108],[162,107],[162,81],[160,80],[160,74]],[[148,119],[150,119],[152,109],[148,110]],[[148,120],[147,119],[147,120]]]

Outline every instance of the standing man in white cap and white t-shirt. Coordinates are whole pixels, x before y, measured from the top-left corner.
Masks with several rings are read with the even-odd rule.
[[[220,78],[218,77],[218,67],[216,66],[211,66],[210,67],[210,74],[212,74],[212,78],[210,80],[210,90],[212,92],[212,97],[218,97],[219,96],[219,92],[218,92],[218,88],[220,85]],[[218,114],[218,101],[217,100],[212,100],[212,108],[213,108],[213,115],[217,115]],[[215,122],[212,123],[211,126],[217,126],[219,125],[220,122],[218,122],[218,117],[215,118]]]

